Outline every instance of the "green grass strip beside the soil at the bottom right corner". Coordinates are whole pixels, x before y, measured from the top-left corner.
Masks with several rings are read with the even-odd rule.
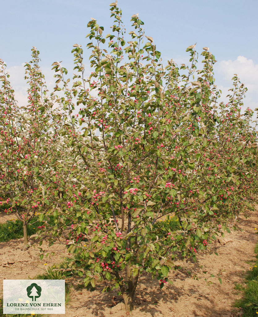
[[[243,317],[258,316],[258,243],[255,247],[255,264],[246,274],[246,285],[236,284],[235,289],[243,291],[242,299],[235,302],[235,307],[242,308]]]

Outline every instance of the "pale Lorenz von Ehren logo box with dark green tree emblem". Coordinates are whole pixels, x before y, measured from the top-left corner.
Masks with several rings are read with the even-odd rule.
[[[3,280],[3,314],[65,314],[65,280]]]

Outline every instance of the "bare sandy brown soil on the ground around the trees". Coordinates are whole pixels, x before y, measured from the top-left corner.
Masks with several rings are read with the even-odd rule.
[[[218,256],[214,253],[200,254],[198,264],[190,264],[190,269],[196,272],[195,279],[184,272],[172,272],[170,278],[174,284],[167,284],[160,290],[157,280],[152,280],[148,275],[141,276],[136,292],[135,308],[131,316],[236,317],[241,315],[241,312],[232,306],[241,296],[234,287],[235,283],[244,280],[243,274],[250,268],[247,262],[255,259],[258,208],[249,215],[248,219],[240,217],[237,226],[241,230],[232,230],[230,234],[225,234],[225,238],[220,238],[214,244],[213,251],[217,252]],[[21,247],[22,239],[0,243],[0,280],[33,278],[44,272],[46,267],[61,262],[67,255],[65,246],[56,244],[50,248],[50,251],[55,251],[55,255],[40,261],[36,247],[31,247],[27,251],[21,250]],[[47,265],[44,265],[45,263]],[[203,273],[205,271],[206,274]],[[209,278],[210,274],[218,275],[220,272],[222,272],[222,284],[217,277]],[[205,278],[213,283],[209,285]],[[0,293],[2,293],[3,282],[0,282]],[[115,292],[101,294],[101,287],[89,291],[80,288],[78,280],[73,279],[68,283],[77,286],[72,288],[66,314],[56,315],[57,317],[127,315],[121,298],[116,296]]]

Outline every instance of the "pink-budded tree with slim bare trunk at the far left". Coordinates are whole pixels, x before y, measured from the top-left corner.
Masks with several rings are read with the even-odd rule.
[[[27,224],[44,202],[43,172],[48,161],[46,144],[51,143],[49,120],[51,97],[46,95],[44,75],[39,68],[39,52],[32,49],[32,60],[25,65],[28,79],[28,105],[18,107],[10,86],[6,65],[0,60],[0,179],[1,204],[14,211],[23,222],[24,248],[28,247]]]

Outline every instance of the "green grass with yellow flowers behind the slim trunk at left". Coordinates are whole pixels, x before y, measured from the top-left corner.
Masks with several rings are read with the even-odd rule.
[[[28,224],[28,236],[36,233],[38,226],[42,225],[39,221],[31,220]],[[19,220],[7,220],[0,224],[0,242],[6,242],[11,239],[19,239],[23,237],[23,223]]]

